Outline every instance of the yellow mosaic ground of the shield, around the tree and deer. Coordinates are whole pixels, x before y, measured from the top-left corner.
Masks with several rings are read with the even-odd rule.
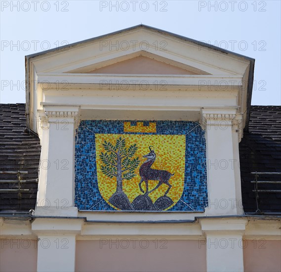
[[[97,165],[97,179],[98,187],[102,197],[105,201],[116,209],[112,204],[108,202],[108,199],[116,191],[117,182],[116,178],[110,179],[104,175],[101,171],[101,165],[103,165],[100,154],[106,152],[103,147],[104,141],[110,141],[113,145],[116,144],[117,138],[124,138],[126,141],[126,148],[136,143],[138,146],[137,152],[134,157],[139,157],[141,163],[135,170],[136,177],[131,180],[123,180],[123,192],[128,196],[130,202],[140,194],[143,194],[139,189],[140,175],[139,168],[146,161],[143,155],[148,154],[149,146],[152,145],[156,153],[156,160],[151,168],[166,170],[171,174],[174,174],[169,180],[172,185],[167,196],[169,196],[174,206],[181,198],[184,188],[184,174],[185,174],[185,135],[130,135],[130,134],[96,134],[96,165]],[[159,181],[148,181],[149,190],[153,189]],[[145,182],[142,183],[144,191]],[[168,185],[161,184],[161,186],[155,191],[149,194],[153,203],[163,196],[168,188]],[[168,209],[170,209],[170,206]]]

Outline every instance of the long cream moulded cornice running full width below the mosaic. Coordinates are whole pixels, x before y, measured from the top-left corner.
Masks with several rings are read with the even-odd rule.
[[[21,237],[35,239],[38,235],[75,234],[79,239],[100,236],[163,236],[176,239],[204,236],[204,232],[229,233],[243,231],[243,238],[281,240],[281,219],[273,217],[211,217],[197,218],[188,223],[122,223],[87,222],[84,218],[35,217],[33,221],[1,217],[0,238]]]

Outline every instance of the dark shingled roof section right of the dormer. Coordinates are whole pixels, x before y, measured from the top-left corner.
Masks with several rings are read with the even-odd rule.
[[[239,144],[242,202],[245,213],[281,213],[281,192],[253,192],[251,172],[281,172],[281,106],[251,106],[249,132]],[[257,181],[280,181],[259,175]],[[258,183],[258,190],[281,190],[281,183]],[[258,207],[257,207],[258,204]]]

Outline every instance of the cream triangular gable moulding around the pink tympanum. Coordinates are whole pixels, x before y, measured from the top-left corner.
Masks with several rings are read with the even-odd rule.
[[[248,60],[240,55],[225,53],[142,25],[29,57],[36,64],[38,73],[109,73],[111,70],[118,71],[118,65],[108,66],[125,60],[131,64],[129,59],[139,56],[151,59],[149,63],[145,58],[136,59],[139,65],[144,62],[156,69],[160,66],[153,62],[156,60],[162,62],[163,70],[168,68],[164,68],[165,64],[175,66],[169,67],[171,74],[178,71],[180,75],[243,75],[248,66]],[[135,69],[137,73],[139,69]],[[143,74],[142,69],[140,74]]]

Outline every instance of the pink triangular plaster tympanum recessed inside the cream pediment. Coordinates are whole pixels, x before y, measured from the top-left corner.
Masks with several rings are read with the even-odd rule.
[[[109,66],[95,69],[90,74],[158,74],[158,75],[197,75],[164,62],[144,56],[124,60]]]

